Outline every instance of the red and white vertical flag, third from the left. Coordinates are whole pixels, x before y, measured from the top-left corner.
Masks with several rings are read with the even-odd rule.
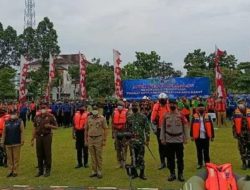
[[[87,60],[85,56],[79,53],[79,66],[80,66],[80,95],[81,99],[87,98],[86,90],[86,76],[87,76]]]

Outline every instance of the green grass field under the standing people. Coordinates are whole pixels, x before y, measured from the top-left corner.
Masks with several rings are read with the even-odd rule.
[[[6,178],[7,169],[0,168],[0,187],[12,187],[13,185],[30,185],[32,187],[48,187],[51,185],[74,186],[74,187],[97,187],[111,186],[127,188],[129,187],[129,178],[125,170],[116,169],[116,157],[113,146],[113,140],[109,133],[108,143],[104,148],[103,161],[103,179],[91,179],[90,168],[74,169],[76,165],[76,151],[74,140],[72,139],[71,129],[60,128],[54,131],[53,137],[53,164],[52,173],[48,178],[35,178],[37,165],[35,148],[30,146],[32,124],[28,123],[25,129],[25,145],[21,151],[21,162],[19,176],[17,178]],[[231,162],[234,171],[244,175],[248,171],[240,169],[241,162],[237,149],[237,141],[232,137],[231,128],[222,128],[215,131],[215,141],[211,143],[211,161],[222,164]],[[156,137],[151,135],[150,148],[158,159]],[[188,179],[194,175],[196,170],[196,151],[194,142],[188,142],[185,145],[185,171],[184,177]],[[180,189],[182,183],[167,182],[168,170],[159,171],[159,161],[155,161],[146,150],[146,176],[148,180],[133,180],[134,187],[158,187],[160,189]],[[89,163],[91,165],[91,163]]]

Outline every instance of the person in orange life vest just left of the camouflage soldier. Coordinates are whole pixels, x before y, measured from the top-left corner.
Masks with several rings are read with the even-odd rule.
[[[122,101],[117,103],[112,115],[112,138],[115,140],[116,158],[119,168],[124,168],[127,158],[128,145],[125,143],[125,138],[118,138],[117,135],[125,132],[127,122],[128,109]]]

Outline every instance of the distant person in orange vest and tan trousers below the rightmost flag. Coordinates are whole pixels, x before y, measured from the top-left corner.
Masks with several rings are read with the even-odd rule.
[[[226,102],[222,96],[216,100],[215,110],[217,115],[217,127],[226,126]]]

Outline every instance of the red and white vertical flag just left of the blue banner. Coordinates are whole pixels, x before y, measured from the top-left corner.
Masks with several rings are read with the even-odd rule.
[[[113,49],[114,55],[114,76],[115,76],[115,95],[117,98],[123,97],[122,79],[121,79],[121,54],[119,51]]]

